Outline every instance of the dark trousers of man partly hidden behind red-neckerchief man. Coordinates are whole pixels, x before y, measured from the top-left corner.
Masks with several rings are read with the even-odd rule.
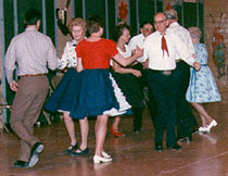
[[[197,121],[190,104],[186,101],[186,92],[190,79],[190,66],[183,61],[177,62],[174,71],[176,106],[177,106],[177,138],[191,137],[192,127]]]

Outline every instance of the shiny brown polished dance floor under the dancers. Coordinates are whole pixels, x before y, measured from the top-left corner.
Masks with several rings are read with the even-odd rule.
[[[144,110],[142,131],[132,131],[132,117],[123,117],[124,138],[107,133],[105,151],[113,158],[109,164],[93,164],[94,120],[90,120],[89,148],[86,156],[63,153],[68,138],[63,122],[36,127],[45,144],[39,163],[33,168],[15,168],[20,141],[13,133],[0,131],[0,176],[228,176],[228,102],[205,105],[218,125],[207,134],[195,134],[190,143],[179,143],[181,151],[153,150],[154,129]],[[195,112],[194,112],[195,113]],[[197,113],[195,113],[197,114]],[[198,122],[200,118],[197,115]],[[110,118],[109,125],[112,123]],[[79,137],[78,123],[76,134]]]

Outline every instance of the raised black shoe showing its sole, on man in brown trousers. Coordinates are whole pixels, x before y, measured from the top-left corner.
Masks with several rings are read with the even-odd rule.
[[[28,167],[35,166],[39,161],[39,154],[43,150],[43,144],[41,142],[36,142],[30,151],[30,160],[28,163]]]

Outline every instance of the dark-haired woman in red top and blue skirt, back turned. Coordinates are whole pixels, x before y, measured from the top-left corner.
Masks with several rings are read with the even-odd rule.
[[[109,115],[124,114],[130,105],[109,72],[110,60],[113,58],[126,66],[143,52],[138,48],[132,56],[124,59],[118,53],[114,41],[101,38],[103,24],[98,15],[88,20],[87,30],[90,36],[80,41],[76,48],[80,83],[75,105],[69,115],[79,120],[85,116],[97,116],[93,163],[111,162],[111,156],[102,155]]]

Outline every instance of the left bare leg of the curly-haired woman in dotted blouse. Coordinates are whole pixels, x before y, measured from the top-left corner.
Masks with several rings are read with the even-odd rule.
[[[72,117],[69,117],[69,114],[67,112],[63,113],[63,118],[64,118],[64,123],[66,126],[66,130],[68,133],[69,139],[71,139],[71,144],[75,146],[77,140],[75,137],[75,124]]]

